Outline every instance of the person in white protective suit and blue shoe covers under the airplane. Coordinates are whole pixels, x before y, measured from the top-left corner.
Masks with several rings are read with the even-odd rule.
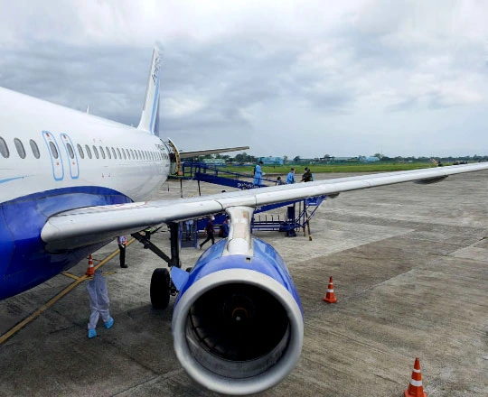
[[[114,325],[114,319],[110,317],[108,312],[108,306],[110,300],[108,300],[107,282],[102,275],[101,270],[97,270],[91,280],[87,284],[87,291],[89,293],[89,310],[91,314],[89,316],[89,337],[97,336],[97,323],[101,315],[105,328],[112,328]]]

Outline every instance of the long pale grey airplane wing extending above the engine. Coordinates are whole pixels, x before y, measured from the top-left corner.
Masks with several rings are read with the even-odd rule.
[[[226,208],[236,206],[256,208],[267,204],[321,195],[337,195],[343,191],[369,189],[408,181],[428,184],[444,180],[449,175],[483,170],[488,170],[488,162],[376,173],[240,190],[191,199],[155,200],[80,208],[50,217],[42,228],[41,238],[48,250],[58,251],[108,241],[117,235],[136,233],[147,226],[220,213]]]

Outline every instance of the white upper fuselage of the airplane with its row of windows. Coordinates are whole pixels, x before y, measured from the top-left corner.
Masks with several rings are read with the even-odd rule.
[[[168,176],[168,150],[153,134],[5,88],[0,108],[0,203],[88,186],[140,201]]]

